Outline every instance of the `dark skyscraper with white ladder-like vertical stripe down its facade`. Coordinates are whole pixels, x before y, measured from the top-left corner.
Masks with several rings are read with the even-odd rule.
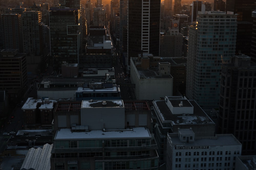
[[[128,1],[128,58],[159,56],[160,0]]]

